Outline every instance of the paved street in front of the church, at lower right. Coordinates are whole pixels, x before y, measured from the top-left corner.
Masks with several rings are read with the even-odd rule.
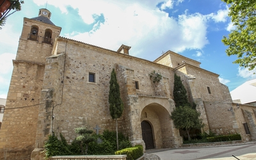
[[[161,160],[256,160],[256,143],[225,147],[178,148],[172,150],[147,150],[147,153],[156,154]],[[233,156],[235,157],[233,157]]]

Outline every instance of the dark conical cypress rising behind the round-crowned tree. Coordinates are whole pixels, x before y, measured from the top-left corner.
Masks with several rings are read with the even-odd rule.
[[[174,74],[173,100],[175,102],[175,106],[178,108],[179,106],[191,106],[188,102],[186,88],[182,84],[180,76],[177,76],[176,74]]]

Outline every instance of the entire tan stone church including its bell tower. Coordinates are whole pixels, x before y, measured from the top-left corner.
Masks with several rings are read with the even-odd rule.
[[[50,19],[45,8],[38,17],[24,18],[0,130],[0,159],[43,159],[44,143],[53,132],[71,143],[76,127],[115,131],[108,104],[113,68],[124,102],[118,132],[132,145],[181,147],[179,129],[170,118],[175,74],[201,113],[202,131],[255,140],[255,107],[234,104],[219,75],[200,68],[200,62],[172,51],[148,61],[131,56],[131,47],[124,44],[111,51],[78,42],[61,37],[61,28]],[[161,79],[156,83],[150,74]]]

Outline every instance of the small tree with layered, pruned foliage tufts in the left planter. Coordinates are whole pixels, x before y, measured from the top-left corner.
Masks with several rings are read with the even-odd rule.
[[[77,134],[79,134],[79,136],[77,136],[76,140],[80,141],[81,154],[87,155],[88,144],[95,140],[95,138],[93,138],[93,136],[92,136],[93,131],[86,129],[86,127],[78,127],[75,129],[75,132]],[[83,148],[83,145],[86,145],[86,147]]]

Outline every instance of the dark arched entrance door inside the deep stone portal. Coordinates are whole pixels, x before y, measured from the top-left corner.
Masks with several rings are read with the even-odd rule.
[[[155,148],[151,125],[147,121],[143,120],[141,122],[141,129],[142,129],[142,139],[145,142],[146,150]]]

